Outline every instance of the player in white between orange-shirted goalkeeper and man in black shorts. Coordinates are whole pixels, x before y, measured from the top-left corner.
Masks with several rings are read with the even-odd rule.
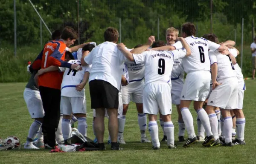
[[[90,53],[94,45],[85,45],[82,49],[83,57]],[[81,64],[80,59],[70,60],[70,63]],[[61,83],[61,113],[62,119],[62,134],[64,140],[70,138],[71,124],[70,119],[73,113],[78,118],[78,131],[83,136],[87,133],[87,118],[86,118],[86,99],[84,94],[84,86],[89,79],[90,65],[82,66],[81,71],[76,71],[67,68]]]

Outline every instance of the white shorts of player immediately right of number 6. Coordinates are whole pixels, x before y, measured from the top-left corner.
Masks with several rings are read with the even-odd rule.
[[[222,109],[237,109],[238,82],[236,77],[218,80],[218,85],[208,99],[207,105]]]

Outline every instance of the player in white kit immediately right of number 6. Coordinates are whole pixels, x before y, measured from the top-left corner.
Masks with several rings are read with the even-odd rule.
[[[218,38],[214,34],[206,34],[203,36],[207,40],[218,43]],[[235,42],[225,42],[227,44],[235,45]],[[211,146],[218,146],[221,144],[218,135],[218,119],[215,113],[215,108],[220,107],[224,120],[224,146],[233,146],[232,144],[232,116],[230,110],[237,108],[238,96],[238,80],[236,78],[236,71],[232,61],[236,62],[235,57],[230,51],[223,51],[223,55],[218,51],[209,51],[209,59],[211,62],[212,72],[212,93],[209,96],[206,112],[209,116],[214,141]]]

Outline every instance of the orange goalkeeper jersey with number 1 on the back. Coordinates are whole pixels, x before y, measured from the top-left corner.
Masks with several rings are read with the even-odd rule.
[[[49,61],[49,57],[51,55],[52,57],[54,57],[54,55],[57,53],[62,54],[60,59],[64,61],[65,49],[66,49],[66,44],[62,40],[52,40],[47,42],[47,44],[44,45],[41,68],[48,68],[49,66],[51,66],[52,63]],[[63,76],[63,73],[58,71],[47,72],[39,76],[38,85],[49,87],[49,88],[60,89],[62,76]]]

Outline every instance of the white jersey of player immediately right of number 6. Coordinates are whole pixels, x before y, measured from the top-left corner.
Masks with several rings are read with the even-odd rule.
[[[225,79],[229,77],[236,77],[235,68],[231,62],[231,58],[227,55],[223,55],[218,51],[209,51],[209,59],[211,65],[213,63],[218,64],[217,80]]]

